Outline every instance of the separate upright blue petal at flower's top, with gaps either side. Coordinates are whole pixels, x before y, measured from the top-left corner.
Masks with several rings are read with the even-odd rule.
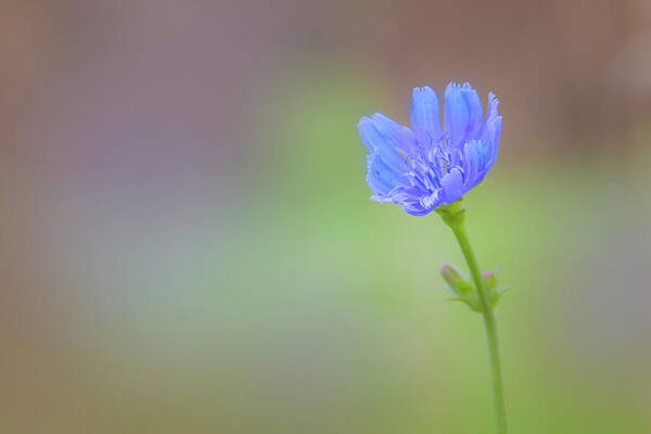
[[[430,149],[443,135],[438,98],[432,88],[414,88],[411,105],[411,128],[424,149]]]

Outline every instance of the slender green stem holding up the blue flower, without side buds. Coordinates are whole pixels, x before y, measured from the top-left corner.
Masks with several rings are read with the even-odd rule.
[[[477,289],[482,310],[484,315],[484,326],[486,328],[486,337],[488,340],[488,355],[490,357],[490,367],[493,371],[493,395],[495,399],[495,416],[497,419],[497,433],[507,433],[507,413],[505,408],[505,392],[502,387],[501,367],[499,362],[499,347],[497,339],[497,323],[493,303],[486,285],[482,279],[477,259],[470,246],[468,233],[465,232],[465,209],[462,208],[459,202],[448,205],[448,208],[439,212],[443,220],[452,229],[455,237],[459,242],[463,257],[468,263],[468,268],[472,275],[472,280]]]

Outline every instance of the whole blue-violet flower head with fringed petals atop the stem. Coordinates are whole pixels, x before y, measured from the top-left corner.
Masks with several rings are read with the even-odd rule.
[[[497,157],[501,116],[488,94],[488,111],[470,84],[445,91],[444,126],[431,88],[413,89],[409,129],[376,113],[362,117],[359,135],[368,148],[367,182],[373,201],[395,203],[413,216],[460,200],[480,183]]]

